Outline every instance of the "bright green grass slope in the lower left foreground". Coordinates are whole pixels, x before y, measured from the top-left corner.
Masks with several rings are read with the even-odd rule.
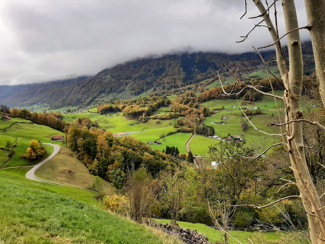
[[[176,243],[165,241],[166,235],[152,234],[146,226],[57,193],[78,189],[27,180],[23,176],[27,170],[0,170],[4,243],[9,239],[12,243]]]

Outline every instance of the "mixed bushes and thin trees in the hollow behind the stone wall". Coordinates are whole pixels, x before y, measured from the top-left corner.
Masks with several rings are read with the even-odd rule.
[[[268,166],[268,162],[261,159],[242,158],[238,155],[248,158],[254,155],[242,144],[220,142],[211,147],[209,153],[214,161],[219,162],[215,169],[195,170],[182,162],[175,170],[167,167],[156,177],[152,177],[145,167],[125,172],[123,192],[126,197],[109,196],[104,199],[104,208],[123,215],[128,213],[139,222],[145,215],[150,217],[154,214],[172,219],[174,223],[180,220],[212,224],[209,202],[223,226],[227,224],[248,229],[256,226],[279,226],[281,229],[305,227],[307,221],[299,200],[290,199],[262,209],[233,207],[246,203],[265,205],[283,196],[297,194],[298,190],[293,187],[278,191],[285,180],[292,179],[290,174],[283,176],[279,170],[279,167],[285,170],[288,166],[283,168],[279,163]],[[274,157],[283,157],[282,154],[285,152],[272,153]],[[279,182],[278,177],[284,177],[284,180]],[[227,222],[223,222],[225,218]],[[288,218],[290,221],[286,220]]]

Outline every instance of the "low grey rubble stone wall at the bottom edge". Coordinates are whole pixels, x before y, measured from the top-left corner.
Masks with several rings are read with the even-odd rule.
[[[173,224],[164,224],[164,223],[157,223],[157,222],[147,222],[148,225],[151,225],[155,228],[160,228],[167,233],[176,234],[180,237],[185,243],[190,244],[212,244],[206,234],[199,233],[196,229],[187,229],[181,228],[178,225]]]

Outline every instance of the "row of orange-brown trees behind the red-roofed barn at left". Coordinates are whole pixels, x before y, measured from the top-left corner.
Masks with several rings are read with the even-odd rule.
[[[18,108],[10,108],[9,112],[12,117],[25,118],[31,120],[35,124],[48,126],[61,132],[64,132],[65,127],[67,126],[61,113],[37,113],[31,112],[25,108],[22,110]]]

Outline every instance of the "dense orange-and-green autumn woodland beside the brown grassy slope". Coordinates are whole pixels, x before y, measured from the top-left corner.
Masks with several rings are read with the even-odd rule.
[[[76,124],[70,125],[67,136],[68,147],[89,171],[110,181],[117,189],[122,188],[128,169],[143,166],[157,177],[166,167],[172,171],[176,167],[173,157],[153,151],[132,137],[114,138],[111,132]]]

